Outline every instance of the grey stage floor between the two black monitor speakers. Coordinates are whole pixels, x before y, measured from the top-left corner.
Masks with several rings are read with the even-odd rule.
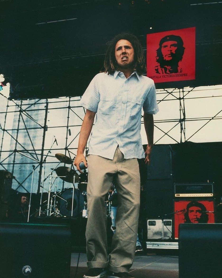
[[[78,253],[72,253],[70,278],[74,277]],[[87,270],[86,254],[80,253],[79,268],[76,278],[81,278]],[[169,254],[148,254],[135,256],[130,269],[135,278],[178,278],[178,256]]]

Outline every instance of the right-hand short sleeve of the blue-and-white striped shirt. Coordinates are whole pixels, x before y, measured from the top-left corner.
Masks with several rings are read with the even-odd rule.
[[[143,111],[148,114],[157,114],[159,111],[156,98],[156,88],[153,80],[143,104]]]

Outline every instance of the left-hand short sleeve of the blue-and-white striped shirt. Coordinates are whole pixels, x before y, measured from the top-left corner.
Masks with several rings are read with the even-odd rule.
[[[97,75],[96,75],[89,83],[89,86],[85,90],[79,104],[84,108],[96,113],[99,101],[100,101],[100,94],[99,94]]]

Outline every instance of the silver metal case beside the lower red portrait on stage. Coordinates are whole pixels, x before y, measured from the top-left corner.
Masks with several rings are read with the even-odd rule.
[[[171,239],[172,237],[172,219],[147,219],[147,239]]]

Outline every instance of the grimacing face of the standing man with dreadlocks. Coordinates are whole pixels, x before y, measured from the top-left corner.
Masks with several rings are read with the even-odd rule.
[[[126,39],[120,39],[115,46],[115,58],[119,68],[131,68],[134,61],[134,49]]]

